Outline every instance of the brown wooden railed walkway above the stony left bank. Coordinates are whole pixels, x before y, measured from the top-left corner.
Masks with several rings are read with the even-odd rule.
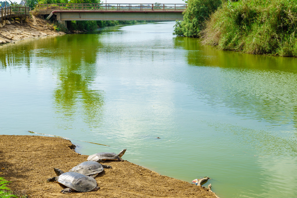
[[[29,7],[4,7],[0,9],[1,23],[7,18],[26,18],[29,16]]]

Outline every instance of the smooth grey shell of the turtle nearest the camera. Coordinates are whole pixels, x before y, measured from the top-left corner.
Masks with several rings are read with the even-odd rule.
[[[65,172],[58,176],[56,182],[78,192],[88,192],[97,187],[97,182],[94,178],[77,172]]]

